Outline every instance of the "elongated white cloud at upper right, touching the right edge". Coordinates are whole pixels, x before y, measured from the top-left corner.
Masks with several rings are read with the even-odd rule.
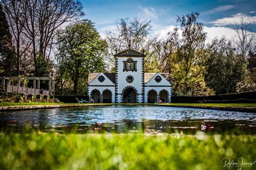
[[[241,18],[243,18],[246,23],[256,24],[256,16],[248,16],[244,13],[237,13],[231,17],[220,18],[210,23],[215,26],[234,25],[235,23],[240,23]]]

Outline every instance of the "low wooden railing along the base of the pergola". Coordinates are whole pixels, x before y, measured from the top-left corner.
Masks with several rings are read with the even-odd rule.
[[[1,91],[7,93],[22,93],[27,95],[44,95],[44,96],[51,96],[51,91],[43,90],[43,89],[35,89],[29,87],[21,87],[21,86],[13,86],[13,85],[0,85]]]

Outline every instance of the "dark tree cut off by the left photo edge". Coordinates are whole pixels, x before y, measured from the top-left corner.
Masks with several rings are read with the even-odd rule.
[[[15,53],[9,25],[0,4],[0,59],[1,74],[14,76],[16,72]]]

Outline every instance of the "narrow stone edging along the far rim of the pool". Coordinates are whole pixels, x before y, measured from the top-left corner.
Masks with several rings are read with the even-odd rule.
[[[14,105],[14,106],[0,107],[0,111],[54,109],[54,108],[71,108],[71,107],[97,107],[97,106],[110,106],[110,105],[119,105],[119,104]],[[120,104],[120,105],[122,105],[122,104]],[[140,104],[125,104],[125,105],[140,105]],[[194,108],[194,109],[227,110],[227,111],[242,111],[242,112],[256,113],[256,108],[252,108],[252,107],[210,107],[210,106],[193,106],[193,105],[165,105],[165,104],[142,104],[142,105],[156,105],[156,106],[164,106],[164,107]]]

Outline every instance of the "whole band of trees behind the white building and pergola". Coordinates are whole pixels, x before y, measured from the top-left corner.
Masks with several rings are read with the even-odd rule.
[[[208,44],[198,12],[178,16],[164,39],[153,34],[151,20],[135,17],[117,19],[103,40],[93,22],[81,19],[82,9],[79,0],[2,0],[1,74],[54,76],[56,94],[85,95],[89,73],[114,72],[113,54],[131,45],[146,54],[145,72],[170,74],[173,95],[256,89],[256,36],[243,19],[235,23],[234,39]]]

